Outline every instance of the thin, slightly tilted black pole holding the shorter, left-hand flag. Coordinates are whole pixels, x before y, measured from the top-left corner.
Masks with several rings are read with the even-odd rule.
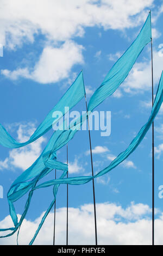
[[[85,93],[85,103],[86,103],[86,112],[87,112],[86,93]],[[90,125],[89,125],[88,114],[87,114],[87,125],[88,125],[88,129],[89,129],[89,139],[90,139],[90,153],[91,153],[92,176],[94,176],[94,174],[93,174],[93,160],[92,160],[92,147],[91,147],[91,134],[90,134]],[[95,184],[94,184],[94,179],[92,179],[92,185],[93,185],[93,204],[94,204],[94,216],[95,216],[95,241],[96,241],[96,245],[97,245],[97,222],[96,222],[96,202],[95,202]]]

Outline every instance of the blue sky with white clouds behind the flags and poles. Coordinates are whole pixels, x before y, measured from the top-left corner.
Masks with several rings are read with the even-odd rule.
[[[163,68],[162,1],[2,1],[0,43],[1,124],[19,141],[26,141],[83,69],[87,99],[102,83],[111,66],[130,46],[152,9],[154,93]],[[96,110],[111,111],[111,135],[91,131],[95,173],[108,166],[125,150],[151,112],[151,48],[145,47],[129,76],[114,95]],[[84,99],[74,110],[85,111]],[[163,185],[162,108],[155,125],[155,208],[156,243],[162,244]],[[21,148],[0,145],[0,226],[11,220],[7,192],[12,182],[29,167],[45,148],[53,131]],[[133,154],[117,168],[95,181],[97,228],[101,244],[151,243],[152,131]],[[79,131],[68,143],[71,176],[91,172],[88,131]],[[58,152],[66,162],[66,147]],[[57,172],[59,176],[61,171]],[[53,179],[54,172],[44,180]],[[69,186],[70,243],[93,244],[92,183]],[[36,191],[22,226],[20,242],[28,243],[37,222],[53,198],[52,188]],[[16,202],[21,215],[26,196]],[[66,186],[57,195],[57,243],[65,243]],[[115,210],[116,209],[116,210]],[[112,214],[111,214],[112,213]],[[82,217],[83,216],[83,217]],[[108,217],[110,216],[110,217]],[[86,221],[85,221],[86,220]],[[88,225],[88,222],[91,224]],[[74,223],[78,223],[74,225]],[[105,224],[103,224],[105,223]],[[48,231],[49,227],[49,231]],[[37,244],[52,244],[53,213],[43,225]],[[81,228],[83,227],[83,229]],[[109,230],[109,231],[108,231]],[[46,239],[43,234],[46,233]],[[105,237],[104,235],[105,234]],[[125,237],[125,238],[124,238]],[[45,238],[45,237],[44,237]],[[15,244],[15,236],[0,240]]]

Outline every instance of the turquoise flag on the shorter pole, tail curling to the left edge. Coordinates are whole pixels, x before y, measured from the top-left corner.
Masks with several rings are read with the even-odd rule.
[[[60,101],[55,105],[52,110],[47,114],[46,118],[37,127],[33,135],[29,138],[27,142],[17,142],[12,138],[7,130],[0,124],[0,144],[8,148],[20,148],[29,143],[34,142],[36,139],[40,138],[47,131],[52,128],[52,124],[58,122],[58,118],[53,117],[54,111],[60,111],[65,113],[65,106],[71,109],[74,107],[85,95],[83,75],[82,71],[78,75],[77,79],[73,82],[72,86],[68,88],[67,92],[61,97]]]

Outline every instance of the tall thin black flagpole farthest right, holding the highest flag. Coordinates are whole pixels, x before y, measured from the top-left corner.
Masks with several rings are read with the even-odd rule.
[[[151,13],[151,11],[150,11]],[[151,38],[151,61],[152,61],[152,107],[153,107],[153,50]],[[154,245],[154,122],[152,123],[152,245]]]

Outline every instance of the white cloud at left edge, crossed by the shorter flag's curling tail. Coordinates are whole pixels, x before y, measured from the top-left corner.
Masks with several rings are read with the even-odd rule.
[[[19,142],[27,141],[34,130],[35,126],[32,123],[28,123],[26,125],[19,124],[17,130],[17,140]],[[37,157],[40,156],[42,151],[42,143],[45,141],[46,139],[41,137],[37,139],[37,141],[23,148],[10,150],[9,157],[7,157],[4,161],[0,161],[0,169],[12,169],[16,167],[22,170],[26,170],[32,165]]]

